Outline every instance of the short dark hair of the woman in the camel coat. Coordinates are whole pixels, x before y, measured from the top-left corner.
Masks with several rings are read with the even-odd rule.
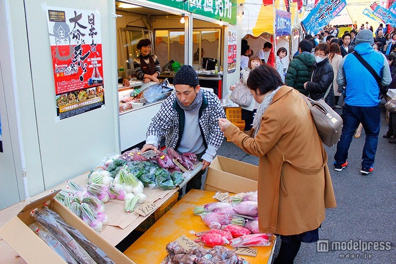
[[[274,67],[268,64],[262,64],[250,71],[247,85],[249,89],[254,91],[258,89],[260,95],[264,95],[283,85],[283,82]]]

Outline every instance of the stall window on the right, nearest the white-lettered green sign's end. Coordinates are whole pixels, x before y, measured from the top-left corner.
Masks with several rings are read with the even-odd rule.
[[[192,63],[202,66],[202,58],[215,58],[221,62],[221,29],[195,29],[192,33]]]

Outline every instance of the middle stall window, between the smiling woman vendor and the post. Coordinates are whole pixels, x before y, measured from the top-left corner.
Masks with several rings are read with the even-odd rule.
[[[181,30],[156,30],[155,55],[161,65],[173,60],[184,63],[184,31]],[[163,71],[167,71],[164,67]]]

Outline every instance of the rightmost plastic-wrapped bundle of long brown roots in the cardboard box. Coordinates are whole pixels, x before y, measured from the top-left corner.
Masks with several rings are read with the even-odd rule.
[[[95,260],[98,264],[114,264],[114,261],[94,243],[89,241],[81,232],[75,227],[66,224],[65,220],[56,212],[45,208],[49,215],[52,215],[55,220],[62,225],[62,227],[74,238],[75,241]]]

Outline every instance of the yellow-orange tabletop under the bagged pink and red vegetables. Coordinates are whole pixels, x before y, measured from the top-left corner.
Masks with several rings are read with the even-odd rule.
[[[201,217],[193,215],[192,210],[196,205],[216,202],[214,195],[213,191],[191,190],[125,250],[124,254],[136,264],[160,263],[167,255],[165,247],[170,241],[176,240],[181,235],[193,240],[196,237],[189,231],[200,232],[209,229]],[[258,250],[256,257],[241,256],[250,263],[270,263],[275,248],[275,236],[272,237],[270,246],[253,248]]]

